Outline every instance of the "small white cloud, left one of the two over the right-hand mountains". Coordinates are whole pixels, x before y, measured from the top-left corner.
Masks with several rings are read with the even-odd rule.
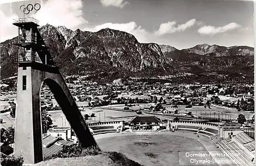
[[[159,29],[157,31],[155,31],[155,34],[156,35],[164,35],[164,34],[171,34],[171,33],[175,33],[175,32],[185,31],[187,28],[194,26],[195,23],[196,23],[196,19],[190,19],[186,23],[178,25],[177,27],[175,27],[176,21],[169,21],[166,23],[161,23]]]

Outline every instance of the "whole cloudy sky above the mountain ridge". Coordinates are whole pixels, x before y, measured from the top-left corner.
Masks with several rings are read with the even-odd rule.
[[[92,32],[110,28],[131,33],[139,42],[177,49],[203,43],[254,47],[250,1],[29,0],[3,4],[5,1],[0,1],[1,42],[17,35],[12,22],[24,16],[20,6],[39,3],[40,10],[26,17],[36,18],[41,26],[49,23]]]

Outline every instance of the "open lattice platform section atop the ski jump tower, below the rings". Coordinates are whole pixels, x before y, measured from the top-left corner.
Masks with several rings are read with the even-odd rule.
[[[14,19],[13,25],[18,27],[18,39],[14,40],[14,45],[19,47],[18,58],[14,63],[28,65],[31,62],[39,62],[46,66],[56,66],[40,34],[38,22],[32,17]]]

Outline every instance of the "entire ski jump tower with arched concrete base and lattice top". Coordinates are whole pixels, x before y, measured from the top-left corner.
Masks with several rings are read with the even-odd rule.
[[[43,83],[53,92],[81,145],[97,146],[38,30],[38,21],[24,17],[15,20],[13,25],[18,27],[18,39],[14,41],[18,46],[18,58],[15,59],[18,78],[14,154],[24,155],[26,164],[43,160],[40,107]]]

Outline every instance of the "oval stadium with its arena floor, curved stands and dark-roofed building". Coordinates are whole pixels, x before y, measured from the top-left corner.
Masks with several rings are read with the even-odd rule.
[[[163,122],[156,116],[139,115],[130,122],[88,126],[102,150],[121,152],[141,164],[254,165],[254,140],[234,123]]]

